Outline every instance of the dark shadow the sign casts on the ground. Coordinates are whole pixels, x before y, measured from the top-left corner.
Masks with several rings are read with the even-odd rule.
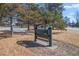
[[[36,43],[34,41],[26,41],[26,40],[21,40],[16,42],[18,45],[24,46],[26,48],[33,48],[33,47],[47,47],[44,45],[41,45],[39,43]]]

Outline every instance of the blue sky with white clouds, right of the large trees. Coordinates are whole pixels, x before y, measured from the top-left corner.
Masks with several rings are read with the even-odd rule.
[[[75,12],[79,10],[79,3],[64,3],[64,11],[63,11],[63,16],[67,16],[70,18],[70,22],[75,20]]]

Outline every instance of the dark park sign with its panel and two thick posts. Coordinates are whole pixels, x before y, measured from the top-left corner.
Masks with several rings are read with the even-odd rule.
[[[39,25],[35,25],[35,41],[38,37],[45,38],[47,40],[43,40],[49,43],[48,46],[52,46],[52,28],[51,26],[39,27]]]

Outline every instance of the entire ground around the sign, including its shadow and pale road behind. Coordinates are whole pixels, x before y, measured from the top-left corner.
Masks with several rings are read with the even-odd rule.
[[[0,28],[0,55],[3,56],[79,55],[79,28],[67,28],[67,31],[52,30],[52,47],[45,46],[45,42],[34,42],[33,29],[27,31],[27,28],[15,28],[12,37],[9,31],[4,30],[9,28]]]

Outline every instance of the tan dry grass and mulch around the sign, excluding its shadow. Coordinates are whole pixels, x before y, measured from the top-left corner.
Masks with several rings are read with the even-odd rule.
[[[79,55],[79,33],[72,31],[54,31],[53,32],[54,45],[53,47],[42,47],[38,44],[36,47],[27,47],[26,42],[34,41],[34,34],[15,34],[13,37],[1,37],[0,38],[0,55]],[[18,44],[17,42],[20,42]],[[22,44],[22,45],[21,45]],[[33,45],[33,43],[30,43]],[[76,45],[76,46],[74,46]]]

